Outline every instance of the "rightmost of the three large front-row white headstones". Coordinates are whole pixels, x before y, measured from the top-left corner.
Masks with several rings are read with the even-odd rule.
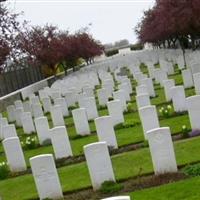
[[[153,129],[147,132],[147,136],[155,174],[177,172],[170,129]]]

